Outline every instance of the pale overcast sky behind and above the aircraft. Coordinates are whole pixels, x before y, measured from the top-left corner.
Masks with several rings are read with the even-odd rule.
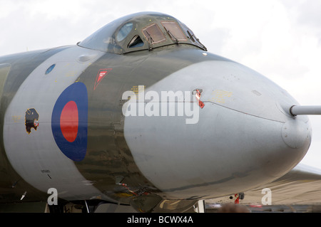
[[[320,0],[0,0],[0,56],[73,45],[121,16],[158,11],[209,52],[257,70],[301,105],[321,105],[320,10]],[[321,168],[321,116],[310,120],[302,163]]]

